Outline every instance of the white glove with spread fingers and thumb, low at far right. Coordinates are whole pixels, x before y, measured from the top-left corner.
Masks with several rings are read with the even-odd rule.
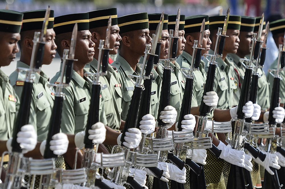
[[[270,154],[270,153],[264,152],[264,151],[262,151],[262,152],[266,154],[265,160],[262,162],[259,158],[257,158],[257,159],[254,159],[255,162],[262,165],[269,174],[274,175],[274,172],[269,167],[273,167],[275,169],[281,168],[278,165],[278,156],[276,154]]]

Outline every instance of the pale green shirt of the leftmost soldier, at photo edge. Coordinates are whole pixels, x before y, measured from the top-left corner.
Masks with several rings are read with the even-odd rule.
[[[20,100],[10,85],[8,76],[2,70],[0,70],[0,94],[0,140],[8,140],[13,134]]]

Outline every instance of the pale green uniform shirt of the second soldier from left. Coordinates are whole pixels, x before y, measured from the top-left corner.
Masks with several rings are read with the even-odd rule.
[[[17,61],[17,68],[29,68],[27,64]],[[14,71],[9,76],[10,83],[14,87],[18,96],[23,92],[23,81],[25,81],[26,72]],[[40,74],[34,74],[34,83],[32,87],[32,98],[30,107],[29,123],[35,126],[38,135],[38,141],[42,142],[48,134],[48,126],[54,104],[54,94],[48,87],[48,76],[42,71]]]

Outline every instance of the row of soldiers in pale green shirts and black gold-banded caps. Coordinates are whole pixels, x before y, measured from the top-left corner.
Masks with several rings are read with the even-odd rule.
[[[28,69],[32,57],[33,37],[35,31],[41,31],[44,21],[45,10],[27,11],[23,13],[1,10],[0,31],[1,31],[1,66],[7,66],[15,59],[16,53],[21,51],[20,60],[17,61],[17,69]],[[108,27],[108,20],[111,17],[111,27]],[[94,144],[99,145],[99,151],[110,153],[114,145],[124,145],[128,148],[137,148],[142,139],[142,133],[152,134],[155,131],[156,119],[161,119],[168,130],[178,130],[178,120],[182,106],[182,99],[185,90],[185,76],[181,68],[191,68],[194,41],[199,40],[201,25],[205,20],[205,31],[202,38],[202,55],[214,54],[215,43],[219,27],[223,27],[224,15],[207,16],[196,15],[185,17],[180,15],[178,29],[178,50],[177,60],[170,62],[172,67],[170,81],[170,106],[158,111],[163,78],[163,66],[157,65],[152,69],[152,85],[150,95],[150,111],[142,117],[138,128],[130,128],[125,133],[125,142],[121,144],[120,130],[123,130],[127,120],[129,106],[131,104],[135,89],[135,79],[129,75],[139,76],[142,72],[139,63],[143,63],[146,46],[151,43],[151,35],[156,33],[156,27],[160,23],[161,14],[137,13],[117,17],[117,9],[101,9],[89,13],[78,13],[54,17],[50,11],[46,30],[46,44],[43,65],[50,65],[56,52],[63,57],[64,49],[70,49],[72,30],[75,23],[78,26],[76,36],[76,51],[74,55],[72,78],[70,85],[63,89],[65,100],[62,105],[61,133],[52,137],[50,150],[56,155],[63,155],[66,168],[73,167],[76,148],[84,147],[85,128],[88,119],[90,106],[90,93],[92,82],[87,79],[86,73],[97,73],[99,59],[100,40],[106,39],[106,31],[110,30],[109,51],[110,55],[117,55],[111,65],[107,65],[107,74],[100,76],[101,93],[99,103],[99,121],[88,131],[88,138]],[[177,15],[164,14],[161,35],[161,52],[159,59],[168,59],[169,30],[175,29]],[[237,110],[241,95],[241,86],[245,75],[245,66],[240,58],[249,58],[251,53],[251,39],[253,33],[258,32],[258,26],[262,21],[261,17],[246,17],[230,15],[227,23],[227,36],[223,56],[216,59],[216,68],[213,91],[203,94],[204,85],[207,79],[209,62],[202,57],[199,71],[195,71],[194,86],[191,101],[191,114],[184,116],[181,122],[183,130],[194,130],[196,119],[199,115],[201,101],[211,107],[207,115],[211,127],[211,120],[225,122],[237,118]],[[262,23],[262,38],[267,34],[265,23]],[[273,34],[276,45],[284,43],[285,20],[281,19],[270,23],[270,30]],[[101,55],[101,54],[100,54]],[[63,62],[63,59],[62,59]],[[44,71],[34,75],[32,85],[32,98],[30,104],[29,124],[21,128],[17,134],[17,142],[25,149],[26,156],[42,158],[45,151],[45,140],[48,126],[54,106],[54,92],[50,83],[59,83],[62,70],[49,79]],[[277,60],[272,64],[277,68]],[[55,68],[57,69],[57,68]],[[268,122],[270,93],[272,90],[273,77],[265,76],[264,71],[259,68],[258,73],[258,94],[257,102],[247,102],[243,106],[243,112],[247,118],[256,122]],[[284,71],[280,71],[284,75]],[[11,151],[13,136],[13,125],[19,109],[23,86],[25,83],[26,71],[14,71],[9,77],[0,70],[1,81],[1,153]],[[66,78],[64,78],[65,81]],[[269,82],[268,82],[269,81]],[[284,80],[280,84],[281,104],[273,111],[273,117],[277,123],[284,120],[285,89]],[[143,104],[143,102],[141,103]],[[180,123],[179,123],[180,124]],[[276,129],[280,135],[280,130]],[[285,157],[279,152],[267,153],[266,159],[262,162],[253,158],[244,151],[235,150],[228,144],[223,133],[209,134],[221,154],[217,159],[213,154],[207,153],[205,149],[188,150],[187,155],[198,164],[205,165],[205,179],[208,188],[225,188],[227,185],[228,163],[243,167],[252,173],[253,185],[260,187],[261,178],[259,165],[262,165],[270,174],[274,174],[270,167],[279,168],[285,166]],[[260,149],[261,150],[261,149]],[[79,156],[82,156],[80,154]],[[63,159],[63,158],[62,158]],[[80,158],[79,158],[80,159]],[[206,163],[207,160],[207,163]],[[174,180],[190,186],[186,179],[186,172],[189,168],[180,170],[171,163],[159,162],[158,167],[164,171],[161,180]],[[134,179],[141,185],[147,187],[146,175],[154,176],[147,168],[136,169]],[[189,176],[187,175],[187,178]],[[105,179],[107,180],[107,179]],[[121,188],[112,182],[106,183],[113,188]],[[150,187],[151,185],[148,185]],[[72,186],[66,185],[67,188]]]

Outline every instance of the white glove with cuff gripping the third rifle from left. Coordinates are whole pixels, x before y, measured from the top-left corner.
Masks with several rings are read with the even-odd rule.
[[[106,128],[103,123],[97,122],[88,130],[88,138],[92,140],[93,144],[102,144],[106,138]],[[74,137],[74,143],[77,148],[84,147],[85,131],[77,133]]]

